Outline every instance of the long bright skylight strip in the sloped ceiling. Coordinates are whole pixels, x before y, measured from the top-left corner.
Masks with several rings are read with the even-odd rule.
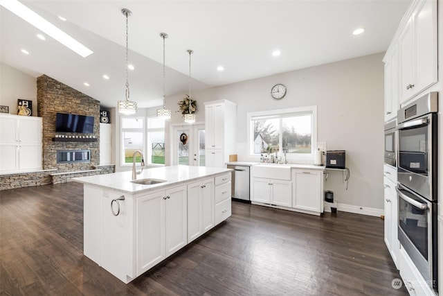
[[[62,30],[60,30],[60,28],[57,28],[43,17],[37,15],[37,13],[30,10],[19,1],[0,1],[0,5],[10,10],[10,12],[14,13],[18,17],[21,17],[21,19],[28,21],[29,24],[35,26],[35,28],[38,28],[43,33],[46,33],[46,35],[53,37],[67,48],[75,51],[75,53],[78,53],[83,58],[86,58],[92,53],[91,49],[88,49],[86,46],[64,33]]]

